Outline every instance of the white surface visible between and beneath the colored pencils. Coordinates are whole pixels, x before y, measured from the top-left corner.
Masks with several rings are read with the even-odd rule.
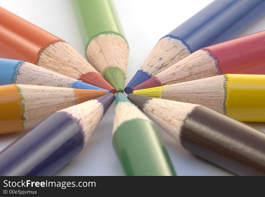
[[[133,77],[159,38],[210,2],[211,0],[114,0],[130,47],[125,84]],[[82,43],[70,1],[0,0],[0,6],[66,40],[85,57],[85,43]],[[262,31],[264,27],[265,17],[242,35]],[[99,123],[83,151],[56,175],[124,175],[111,142],[113,118],[114,105]],[[265,123],[250,125],[265,131]],[[1,135],[0,150],[22,133]],[[232,175],[190,154],[162,129],[161,133],[178,175]]]

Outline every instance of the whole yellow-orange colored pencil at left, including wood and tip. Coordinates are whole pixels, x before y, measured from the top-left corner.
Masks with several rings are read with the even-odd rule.
[[[104,90],[2,85],[0,86],[0,134],[33,128],[53,112],[105,94]]]

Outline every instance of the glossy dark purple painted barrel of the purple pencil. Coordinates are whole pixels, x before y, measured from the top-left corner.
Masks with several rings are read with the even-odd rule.
[[[67,113],[50,115],[0,153],[0,175],[55,174],[83,149],[82,132]]]

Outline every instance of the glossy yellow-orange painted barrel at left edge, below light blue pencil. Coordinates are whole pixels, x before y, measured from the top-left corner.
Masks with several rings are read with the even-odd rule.
[[[23,105],[15,84],[0,86],[0,134],[23,129]]]

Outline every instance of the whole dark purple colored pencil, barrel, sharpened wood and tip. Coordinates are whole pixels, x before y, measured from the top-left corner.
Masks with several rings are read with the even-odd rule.
[[[114,99],[110,93],[51,114],[0,153],[0,175],[55,174],[83,149]]]

